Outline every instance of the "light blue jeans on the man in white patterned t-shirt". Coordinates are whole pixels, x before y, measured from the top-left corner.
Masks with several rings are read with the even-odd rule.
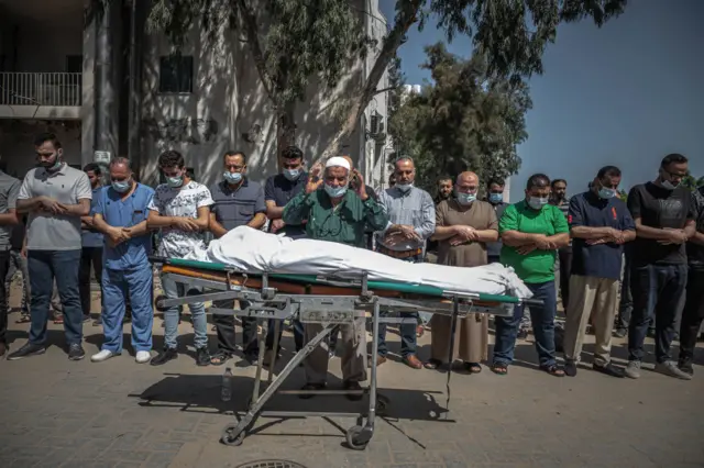
[[[176,282],[162,275],[162,289],[168,299],[183,298],[187,292],[200,292],[197,288],[186,289],[186,285]],[[208,345],[208,319],[202,302],[188,304],[194,322],[194,345],[196,349]],[[178,307],[174,305],[164,311],[164,344],[169,349],[176,349],[178,337]]]

